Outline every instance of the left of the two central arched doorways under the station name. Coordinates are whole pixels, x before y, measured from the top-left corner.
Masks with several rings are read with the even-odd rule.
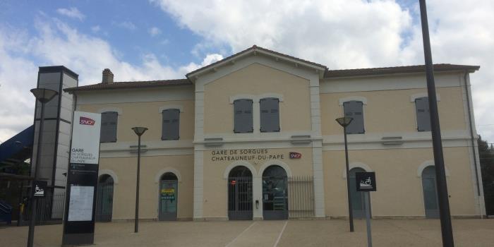
[[[228,219],[252,219],[252,172],[239,166],[228,174]]]

